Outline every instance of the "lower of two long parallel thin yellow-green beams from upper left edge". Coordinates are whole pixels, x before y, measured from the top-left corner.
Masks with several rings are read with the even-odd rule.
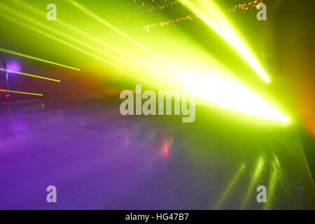
[[[67,43],[66,41],[62,41],[61,39],[59,39],[59,38],[57,38],[57,37],[55,37],[55,36],[52,36],[52,35],[50,35],[50,34],[47,34],[46,32],[41,31],[40,29],[37,29],[37,28],[35,28],[35,27],[31,27],[31,26],[28,25],[27,23],[22,22],[22,21],[20,21],[20,20],[17,20],[17,19],[15,19],[15,18],[11,17],[10,15],[6,15],[6,14],[1,13],[1,12],[0,12],[0,15],[1,15],[3,18],[6,18],[7,20],[10,20],[10,21],[13,21],[13,22],[15,22],[15,23],[18,23],[19,25],[22,25],[23,27],[27,27],[28,29],[32,29],[32,30],[38,32],[39,34],[42,34],[43,36],[47,36],[47,37],[49,37],[49,38],[52,38],[53,40],[58,41],[58,42],[60,42],[60,43],[63,43],[64,45],[67,45],[67,46],[69,46],[69,47],[71,47],[71,48],[73,48],[73,49],[76,49],[76,50],[80,51],[80,52],[83,52],[83,53],[85,53],[86,55],[90,55],[90,56],[92,56],[92,57],[94,57],[94,58],[96,58],[96,59],[101,60],[102,62],[106,62],[107,64],[111,64],[112,66],[115,66],[116,68],[123,70],[123,68],[120,67],[120,66],[118,66],[117,64],[113,64],[113,63],[111,63],[111,62],[109,62],[109,61],[106,61],[106,59],[103,59],[102,57],[98,57],[97,55],[93,55],[92,53],[87,52],[86,50],[83,50],[83,49],[81,49],[81,48],[78,48],[78,47],[76,47],[75,45],[72,45],[71,43]]]

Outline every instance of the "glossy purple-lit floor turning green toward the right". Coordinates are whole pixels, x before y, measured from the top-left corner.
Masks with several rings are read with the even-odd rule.
[[[213,209],[245,162],[248,169],[223,204],[239,209],[261,155],[258,143],[226,141],[181,118],[121,116],[110,101],[0,104],[0,124],[0,209]],[[252,155],[235,156],[233,144]],[[280,160],[288,176],[281,181],[306,197],[284,197],[279,188],[274,208],[288,208],[287,197],[309,206],[309,179],[296,168],[304,169],[301,162],[291,166],[302,161],[293,154],[285,157],[291,162]],[[272,155],[265,152],[260,183],[266,186]],[[46,202],[48,186],[57,188],[55,204]]]

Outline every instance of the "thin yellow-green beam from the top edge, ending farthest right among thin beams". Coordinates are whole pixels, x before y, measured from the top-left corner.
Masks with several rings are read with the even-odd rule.
[[[155,57],[158,57],[158,59],[160,59],[162,62],[167,63],[169,66],[173,66],[172,63],[167,62],[166,59],[160,57],[159,55],[155,54],[155,52],[153,52],[152,50],[146,48],[144,45],[142,45],[141,43],[139,43],[138,41],[134,40],[134,38],[128,36],[127,34],[125,34],[123,31],[121,31],[120,29],[118,29],[117,27],[111,25],[111,23],[107,22],[106,20],[104,20],[103,18],[99,17],[99,15],[96,15],[95,13],[93,13],[92,11],[88,10],[87,8],[85,8],[84,6],[80,5],[79,3],[77,3],[76,1],[71,1],[71,0],[66,0],[69,3],[71,3],[72,6],[75,6],[76,8],[78,8],[79,10],[81,10],[83,13],[89,15],[90,17],[94,18],[94,20],[97,20],[99,22],[102,23],[102,25],[105,25],[106,27],[109,27],[110,29],[112,29],[113,31],[116,31],[116,33],[120,34],[121,36],[127,38],[128,40],[132,41],[132,43],[135,43],[137,45],[139,45],[140,48],[146,50],[147,52],[150,52],[152,55],[154,55]]]

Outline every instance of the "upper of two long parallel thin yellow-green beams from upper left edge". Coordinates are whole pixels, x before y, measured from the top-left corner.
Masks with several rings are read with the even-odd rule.
[[[92,50],[95,50],[95,51],[101,53],[102,55],[106,55],[107,57],[111,57],[111,58],[113,58],[113,59],[116,59],[116,60],[119,61],[119,62],[122,62],[122,63],[124,63],[124,64],[127,64],[127,65],[132,66],[132,67],[134,67],[135,69],[137,69],[137,67],[136,67],[136,66],[133,66],[132,64],[129,64],[129,63],[127,63],[127,62],[124,62],[123,60],[121,60],[121,59],[119,59],[119,58],[117,58],[117,57],[114,57],[113,55],[109,55],[108,53],[103,52],[102,50],[99,50],[98,48],[94,48],[93,46],[88,45],[87,43],[84,43],[83,41],[79,41],[78,39],[73,38],[72,36],[69,36],[69,35],[67,35],[67,34],[64,34],[64,33],[62,33],[61,31],[58,31],[57,29],[54,29],[54,28],[48,27],[48,26],[46,26],[46,25],[43,25],[41,22],[38,22],[38,21],[36,21],[36,20],[34,20],[34,19],[31,19],[31,18],[29,18],[28,16],[23,15],[22,13],[19,13],[19,12],[16,11],[16,10],[12,10],[11,8],[8,8],[7,6],[4,6],[4,5],[2,5],[1,3],[0,3],[0,8],[6,9],[6,10],[9,11],[10,13],[12,13],[13,15],[18,15],[18,16],[20,16],[21,18],[23,18],[24,20],[28,20],[29,22],[33,22],[34,24],[36,24],[36,25],[38,25],[38,26],[40,26],[40,27],[43,27],[44,29],[49,29],[50,31],[55,32],[56,34],[59,34],[59,35],[61,35],[61,36],[64,36],[64,37],[66,37],[66,38],[71,39],[71,41],[74,41],[74,42],[76,42],[76,43],[80,43],[81,45],[84,45],[84,46],[87,47],[87,48],[91,48]],[[112,64],[112,65],[113,65],[113,64]]]

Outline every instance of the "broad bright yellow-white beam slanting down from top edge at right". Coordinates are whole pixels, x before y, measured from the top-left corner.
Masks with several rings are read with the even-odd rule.
[[[184,6],[189,8],[195,13],[195,15],[200,16],[202,21],[208,25],[211,29],[214,29],[220,36],[222,36],[225,41],[228,41],[232,46],[234,46],[237,51],[246,59],[246,61],[255,69],[255,71],[260,75],[260,77],[265,80],[266,83],[270,82],[265,71],[262,69],[260,64],[257,62],[255,57],[251,54],[251,52],[246,48],[246,45],[236,34],[235,30],[229,24],[228,20],[225,19],[225,15],[221,13],[220,8],[216,6],[214,1],[198,1],[198,3],[202,4],[202,6],[198,7],[196,4],[192,3],[188,0],[181,0]],[[203,9],[200,10],[200,9]],[[204,10],[208,9],[207,12]]]

